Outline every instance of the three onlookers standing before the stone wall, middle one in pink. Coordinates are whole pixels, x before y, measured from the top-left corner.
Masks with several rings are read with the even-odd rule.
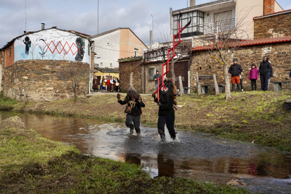
[[[233,60],[233,65],[229,67],[228,72],[231,74],[231,84],[232,91],[235,91],[235,83],[238,85],[238,91],[243,91],[243,82],[241,73],[243,68],[238,65],[238,60]],[[290,71],[291,78],[291,71]],[[261,90],[269,91],[270,80],[273,77],[273,68],[267,56],[264,57],[264,60],[259,65],[259,70],[255,64],[252,64],[252,68],[249,73],[248,79],[251,81],[252,91],[257,90],[257,80],[261,79]]]

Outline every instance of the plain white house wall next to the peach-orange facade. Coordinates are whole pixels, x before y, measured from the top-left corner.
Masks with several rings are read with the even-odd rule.
[[[93,38],[92,41],[94,41],[94,51],[97,54],[94,58],[95,63],[98,63],[99,67],[110,67],[110,63],[112,63],[110,68],[118,68],[119,30]],[[103,66],[101,66],[101,63],[103,63]]]

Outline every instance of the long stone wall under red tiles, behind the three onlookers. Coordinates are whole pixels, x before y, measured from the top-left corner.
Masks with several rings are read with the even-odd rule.
[[[233,58],[238,59],[238,64],[243,67],[243,86],[244,90],[250,91],[251,85],[248,80],[251,65],[254,63],[259,69],[259,64],[264,56],[269,56],[269,60],[273,67],[273,81],[290,81],[289,73],[291,70],[291,43],[274,43],[261,44],[254,46],[243,46],[233,54]],[[215,54],[213,54],[215,56]],[[196,89],[195,74],[199,75],[214,75],[218,76],[217,82],[224,84],[224,67],[215,59],[209,58],[208,51],[193,52],[192,67],[190,69],[190,89],[192,92]],[[232,60],[230,60],[230,65]],[[230,67],[228,65],[228,68]],[[231,75],[230,75],[231,78]],[[200,80],[200,84],[213,84],[213,80]],[[236,86],[235,86],[236,88]],[[212,87],[209,88],[213,90]],[[257,81],[257,89],[261,89],[260,79]],[[270,84],[270,90],[273,90],[273,84]],[[291,89],[291,84],[283,84],[283,89]]]

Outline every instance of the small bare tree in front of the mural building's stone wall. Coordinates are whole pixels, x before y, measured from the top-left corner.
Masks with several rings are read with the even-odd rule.
[[[87,64],[74,64],[63,67],[57,72],[58,79],[62,80],[74,92],[74,100],[77,101],[77,86],[81,82],[89,83],[90,67]],[[84,90],[86,89],[84,84]]]

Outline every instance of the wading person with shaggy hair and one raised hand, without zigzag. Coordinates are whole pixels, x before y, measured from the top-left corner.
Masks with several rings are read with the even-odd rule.
[[[136,129],[136,134],[141,134],[141,129],[139,129],[141,123],[141,108],[145,107],[141,95],[134,88],[130,88],[127,91],[127,96],[125,96],[124,101],[120,100],[119,93],[117,94],[117,99],[119,104],[127,104],[132,107],[131,112],[127,114],[127,119],[125,119],[125,125],[130,129],[129,133],[133,134],[134,129]],[[132,124],[133,122],[134,124]]]

